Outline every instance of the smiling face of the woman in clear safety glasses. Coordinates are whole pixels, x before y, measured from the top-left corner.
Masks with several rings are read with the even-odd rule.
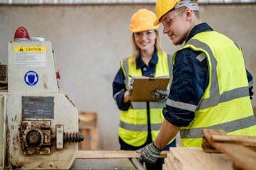
[[[148,30],[143,32],[135,32],[134,40],[135,44],[140,50],[152,50],[156,42],[156,32],[155,30]]]

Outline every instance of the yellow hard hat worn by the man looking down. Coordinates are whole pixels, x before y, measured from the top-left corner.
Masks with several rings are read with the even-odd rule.
[[[157,19],[154,22],[154,26],[158,26],[160,24],[160,18],[164,14],[166,14],[168,11],[170,11],[170,9],[174,8],[176,3],[180,3],[180,1],[181,0],[158,0],[158,1],[156,1],[156,16],[157,16]],[[191,0],[191,1],[198,2],[199,0]],[[181,6],[187,6],[187,5],[181,5]]]

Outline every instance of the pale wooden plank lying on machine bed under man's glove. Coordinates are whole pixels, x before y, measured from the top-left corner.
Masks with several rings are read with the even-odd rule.
[[[166,158],[168,151],[162,151],[160,158]],[[136,151],[82,151],[79,150],[75,158],[138,158]]]

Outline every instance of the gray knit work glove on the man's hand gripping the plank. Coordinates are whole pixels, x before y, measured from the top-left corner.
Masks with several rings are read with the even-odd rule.
[[[152,142],[136,151],[137,153],[141,153],[138,161],[153,164],[158,160],[161,151],[162,150],[157,148]]]

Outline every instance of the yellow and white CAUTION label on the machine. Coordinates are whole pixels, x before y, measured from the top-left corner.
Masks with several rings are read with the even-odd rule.
[[[15,67],[45,67],[46,46],[15,46]]]

